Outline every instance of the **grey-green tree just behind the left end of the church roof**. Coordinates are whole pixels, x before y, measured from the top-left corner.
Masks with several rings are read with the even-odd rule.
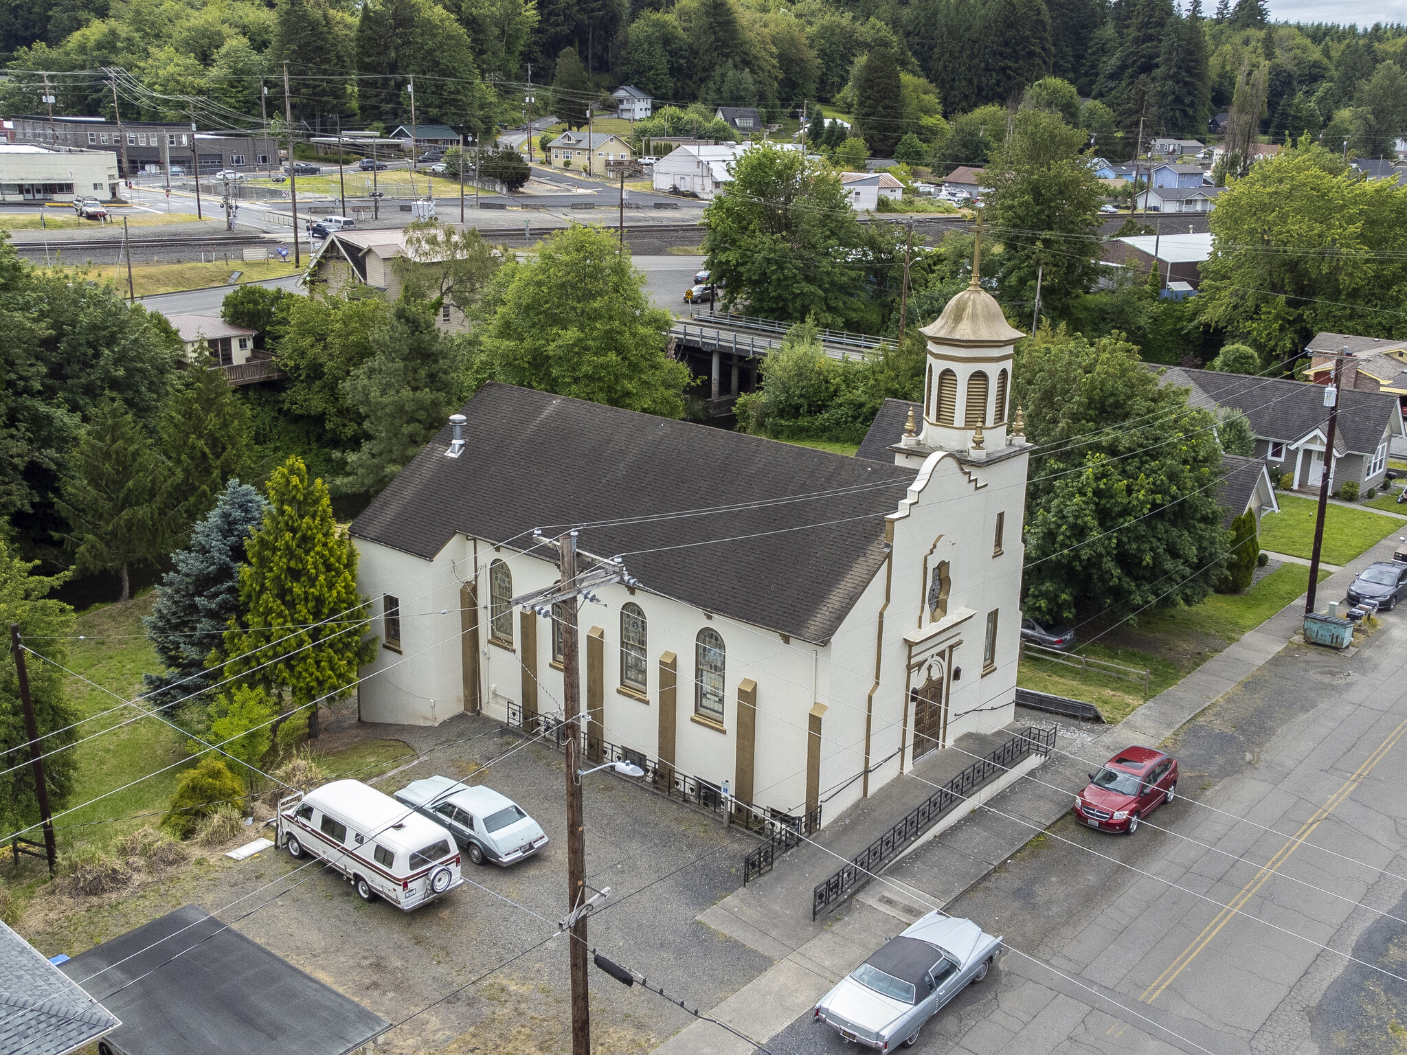
[[[342,383],[367,435],[348,456],[340,484],[350,492],[381,491],[454,411],[454,345],[435,315],[429,301],[398,300],[374,340],[376,354]]]

